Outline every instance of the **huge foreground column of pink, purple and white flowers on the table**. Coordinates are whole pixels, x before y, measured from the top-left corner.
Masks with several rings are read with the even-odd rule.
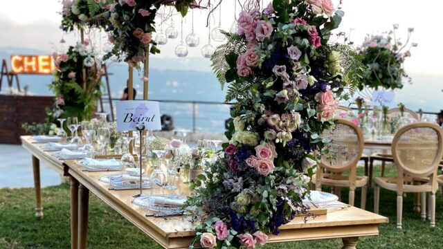
[[[233,122],[224,156],[188,200],[204,248],[254,248],[297,214],[309,215],[302,199],[329,142],[321,133],[362,68],[352,50],[328,44],[343,15],[330,0],[273,0],[242,11],[237,33],[217,48],[213,68],[228,84]]]

